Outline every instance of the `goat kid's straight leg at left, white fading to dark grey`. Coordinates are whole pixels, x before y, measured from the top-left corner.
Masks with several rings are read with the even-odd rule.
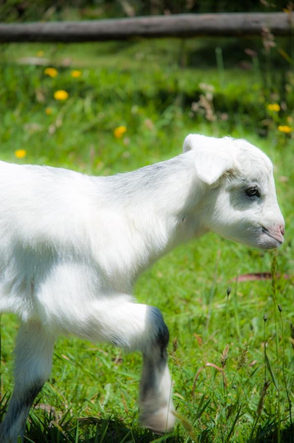
[[[55,337],[38,321],[24,323],[15,347],[15,386],[4,421],[0,442],[17,443],[23,439],[32,402],[49,378]]]

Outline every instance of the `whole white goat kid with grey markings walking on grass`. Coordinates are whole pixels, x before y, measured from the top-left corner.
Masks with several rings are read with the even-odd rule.
[[[134,281],[208,230],[262,249],[279,246],[284,234],[262,151],[245,140],[200,135],[186,137],[183,149],[111,177],[0,162],[0,312],[22,320],[0,442],[23,436],[64,333],[141,350],[141,423],[173,428],[168,328],[158,309],[134,303]]]

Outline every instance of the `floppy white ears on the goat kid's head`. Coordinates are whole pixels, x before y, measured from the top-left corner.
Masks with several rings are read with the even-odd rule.
[[[195,152],[197,175],[207,185],[213,185],[234,166],[232,153],[225,148],[226,140],[190,134],[183,144],[183,152]]]

